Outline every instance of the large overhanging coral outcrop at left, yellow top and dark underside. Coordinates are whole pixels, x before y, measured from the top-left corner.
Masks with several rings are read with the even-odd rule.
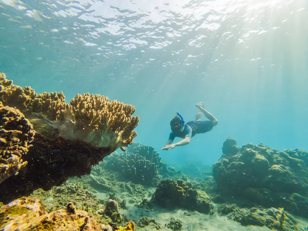
[[[70,103],[65,103],[64,99],[62,92],[37,94],[30,87],[13,85],[4,74],[0,74],[0,102],[8,107],[16,107],[16,116],[27,118],[36,132],[32,147],[29,147],[27,144],[32,141],[31,134],[34,134],[30,123],[24,120],[25,124],[22,125],[19,120],[14,121],[16,126],[25,126],[18,128],[23,129],[21,136],[24,139],[18,138],[18,145],[25,146],[23,152],[29,150],[22,159],[15,160],[14,156],[14,160],[7,160],[12,152],[4,150],[6,157],[3,157],[1,149],[1,170],[7,171],[1,176],[7,178],[0,184],[3,202],[29,195],[37,188],[49,190],[54,185],[61,185],[69,177],[90,174],[93,165],[117,148],[131,144],[137,136],[133,129],[139,117],[131,117],[135,110],[131,105],[109,102],[106,97],[88,93],[76,95]],[[8,110],[3,106],[1,108],[3,113]],[[8,132],[2,134],[2,142],[12,133]],[[14,147],[17,148],[16,145]],[[18,155],[20,157],[22,153]],[[10,161],[15,163],[15,167]],[[5,166],[8,163],[10,166]]]

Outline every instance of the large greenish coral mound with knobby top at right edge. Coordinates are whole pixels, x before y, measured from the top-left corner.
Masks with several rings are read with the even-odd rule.
[[[232,138],[224,142],[223,152],[213,164],[221,194],[308,216],[307,152],[278,151],[262,144],[237,148]]]

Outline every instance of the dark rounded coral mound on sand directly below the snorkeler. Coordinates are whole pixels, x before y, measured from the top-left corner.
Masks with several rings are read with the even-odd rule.
[[[167,209],[181,207],[212,214],[213,204],[204,191],[193,189],[183,180],[164,180],[158,185],[151,202]]]

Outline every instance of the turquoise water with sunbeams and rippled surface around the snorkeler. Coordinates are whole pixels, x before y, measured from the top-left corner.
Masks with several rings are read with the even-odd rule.
[[[157,150],[176,112],[194,120],[203,101],[219,124],[160,151],[170,164],[210,165],[228,136],[307,150],[307,5],[0,0],[0,71],[67,102],[91,92],[134,105],[136,141]]]

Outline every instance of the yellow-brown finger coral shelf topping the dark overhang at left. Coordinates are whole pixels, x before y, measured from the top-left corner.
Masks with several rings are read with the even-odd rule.
[[[60,136],[84,141],[94,147],[115,150],[132,143],[139,117],[135,108],[117,101],[109,102],[99,94],[78,94],[65,103],[63,92],[36,94],[30,87],[21,88],[0,73],[0,101],[16,107],[28,117],[40,118],[59,130]]]

